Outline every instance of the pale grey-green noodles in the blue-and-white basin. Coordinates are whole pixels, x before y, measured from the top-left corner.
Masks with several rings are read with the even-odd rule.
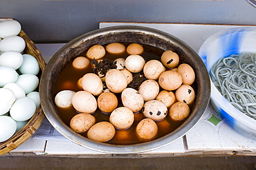
[[[221,58],[210,70],[212,83],[242,113],[256,120],[256,54]]]

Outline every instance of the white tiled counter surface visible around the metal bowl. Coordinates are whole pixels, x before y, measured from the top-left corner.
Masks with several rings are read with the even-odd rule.
[[[100,28],[112,25],[141,25],[163,30],[185,41],[185,43],[188,43],[196,52],[199,50],[203,41],[211,34],[219,30],[233,27],[231,25],[185,25],[167,23],[100,23]],[[51,59],[51,56],[63,45],[64,44],[37,44],[37,48],[42,52],[47,63]],[[145,153],[184,153],[185,155],[187,152],[191,151],[234,150],[252,151],[252,154],[256,152],[256,141],[241,136],[228,127],[226,123],[223,123],[222,120],[219,120],[219,117],[212,109],[212,105],[209,105],[203,114],[203,118],[184,138],[185,143],[183,142],[183,138],[181,138],[170,145]],[[47,138],[45,140],[47,140]],[[44,140],[33,140],[30,138],[23,145],[15,149],[15,151],[42,151],[43,147]],[[56,141],[51,139],[48,139],[46,142],[44,152],[49,155],[102,154],[98,151],[81,147],[71,141]]]

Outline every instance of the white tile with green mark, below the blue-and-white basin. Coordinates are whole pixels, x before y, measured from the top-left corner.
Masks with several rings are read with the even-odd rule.
[[[256,140],[238,134],[223,120],[214,125],[208,120],[212,114],[217,120],[218,116],[210,105],[199,123],[186,135],[188,150],[256,150]]]

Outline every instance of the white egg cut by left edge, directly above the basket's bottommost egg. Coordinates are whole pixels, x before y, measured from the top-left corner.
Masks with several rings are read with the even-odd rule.
[[[15,100],[15,93],[12,90],[0,88],[0,115],[6,114]]]

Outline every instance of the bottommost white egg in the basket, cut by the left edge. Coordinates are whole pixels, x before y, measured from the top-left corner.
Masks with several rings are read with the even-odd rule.
[[[0,142],[8,140],[15,134],[17,123],[10,116],[0,116]]]

